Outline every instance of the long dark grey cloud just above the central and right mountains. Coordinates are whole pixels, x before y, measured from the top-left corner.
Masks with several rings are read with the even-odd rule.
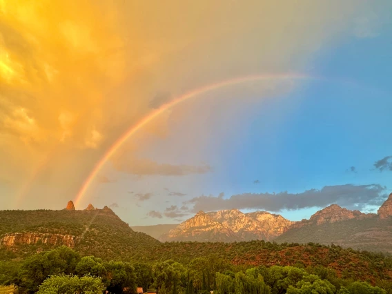
[[[233,195],[227,199],[202,195],[188,201],[193,204],[193,212],[199,210],[222,209],[261,209],[278,212],[283,209],[297,210],[301,208],[325,207],[339,204],[351,209],[362,209],[366,205],[380,205],[384,202],[385,187],[378,184],[353,184],[325,186],[321,190],[311,189],[302,193],[244,193]]]

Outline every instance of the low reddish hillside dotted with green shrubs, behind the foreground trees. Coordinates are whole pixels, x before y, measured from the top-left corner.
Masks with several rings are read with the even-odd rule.
[[[354,280],[392,280],[392,259],[382,254],[360,252],[340,246],[321,244],[276,244],[250,242],[166,242],[155,247],[138,261],[157,262],[173,259],[182,264],[193,259],[224,259],[246,268],[248,266],[323,266],[332,268],[339,277]]]

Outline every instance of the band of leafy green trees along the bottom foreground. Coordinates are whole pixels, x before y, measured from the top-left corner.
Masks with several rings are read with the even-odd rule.
[[[320,265],[252,266],[214,254],[188,262],[104,261],[66,246],[0,262],[0,284],[39,294],[136,293],[137,287],[160,294],[392,293],[388,278],[360,281]]]

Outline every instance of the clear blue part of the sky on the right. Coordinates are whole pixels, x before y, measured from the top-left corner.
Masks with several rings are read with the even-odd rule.
[[[167,186],[182,193],[189,193],[192,187],[194,197],[198,193],[217,197],[223,192],[225,198],[242,193],[302,193],[344,184],[380,184],[386,187],[384,195],[391,192],[391,173],[381,173],[373,166],[392,154],[391,28],[384,27],[375,37],[351,37],[320,52],[309,72],[321,80],[305,81],[287,95],[254,104],[224,106],[215,124],[210,124],[208,146],[202,147],[210,148],[205,160],[214,167],[213,173],[195,181],[176,178],[177,185],[169,180]],[[230,130],[222,124],[228,120]],[[184,133],[177,126],[172,136]],[[213,139],[217,134],[219,144]],[[170,148],[170,141],[177,141],[173,137],[159,146]],[[189,186],[184,188],[187,182]],[[185,198],[170,200],[170,205],[180,207]],[[280,213],[300,220],[319,209],[283,209]],[[367,212],[375,209],[362,208]],[[157,222],[176,221],[164,218]]]

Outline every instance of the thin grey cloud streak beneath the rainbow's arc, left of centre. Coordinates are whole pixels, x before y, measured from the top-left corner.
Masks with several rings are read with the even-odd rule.
[[[113,166],[123,173],[132,175],[166,175],[183,176],[210,173],[213,168],[208,165],[190,166],[186,164],[159,164],[151,159],[114,160]]]

